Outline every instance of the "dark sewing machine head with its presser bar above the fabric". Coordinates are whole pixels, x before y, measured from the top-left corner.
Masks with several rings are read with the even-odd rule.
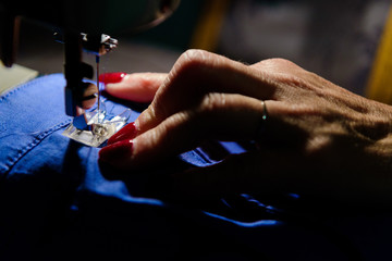
[[[36,0],[23,3],[0,0],[0,60],[9,67],[15,62],[21,18],[52,27],[54,40],[64,42],[65,113],[76,116],[88,88],[83,79],[94,76],[93,66],[83,62],[82,50],[94,52],[99,59],[118,45],[117,39],[106,34],[155,26],[179,3],[180,0]]]

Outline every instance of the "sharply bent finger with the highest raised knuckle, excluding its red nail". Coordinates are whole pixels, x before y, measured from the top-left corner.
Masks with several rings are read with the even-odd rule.
[[[272,99],[274,91],[274,86],[261,70],[215,53],[189,50],[176,61],[136,125],[144,133],[168,116],[197,105],[209,92]]]

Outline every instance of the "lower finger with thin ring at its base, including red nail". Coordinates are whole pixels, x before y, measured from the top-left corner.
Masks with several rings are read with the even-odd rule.
[[[270,116],[274,107],[269,105]],[[212,94],[197,110],[175,113],[133,140],[103,148],[101,160],[120,167],[144,166],[191,150],[204,140],[249,140],[261,124],[262,110],[261,101],[255,98]]]

